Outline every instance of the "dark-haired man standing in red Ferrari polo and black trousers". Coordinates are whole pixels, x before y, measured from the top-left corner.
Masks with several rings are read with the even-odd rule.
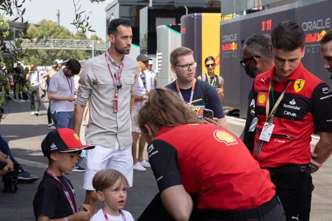
[[[300,62],[304,39],[296,22],[279,23],[271,35],[275,66],[254,82],[258,124],[253,156],[270,171],[287,220],[301,221],[310,217],[310,142],[315,129],[320,139],[314,161],[322,164],[332,152],[332,93]]]

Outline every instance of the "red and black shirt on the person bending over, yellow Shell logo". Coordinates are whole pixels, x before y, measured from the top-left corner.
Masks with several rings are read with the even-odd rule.
[[[275,195],[269,172],[220,127],[164,127],[147,151],[159,191],[182,184],[200,209],[250,209]]]

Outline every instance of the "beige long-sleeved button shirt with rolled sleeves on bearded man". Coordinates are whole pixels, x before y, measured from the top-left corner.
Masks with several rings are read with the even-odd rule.
[[[108,50],[106,55],[114,74],[118,71],[120,64],[116,64]],[[139,68],[137,62],[129,56],[125,55],[124,58],[117,113],[114,113],[115,87],[105,54],[89,59],[83,66],[75,104],[86,106],[89,99],[90,115],[86,127],[86,141],[90,144],[115,148],[117,139],[120,149],[131,146],[130,97],[135,94]]]

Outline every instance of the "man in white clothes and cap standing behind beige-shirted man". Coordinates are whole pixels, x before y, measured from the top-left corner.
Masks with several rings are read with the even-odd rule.
[[[141,136],[141,130],[138,127],[137,114],[139,108],[144,104],[145,100],[148,99],[148,86],[145,70],[147,70],[149,65],[149,57],[146,54],[140,54],[136,58],[139,67],[139,78],[137,79],[135,85],[135,102],[133,109],[130,113],[131,119],[131,136],[133,138],[133,143],[131,145],[131,152],[133,156],[133,169],[137,171],[146,171],[145,167],[151,167],[146,160],[143,159],[143,151],[145,147],[145,139]],[[137,141],[138,143],[138,158],[137,158]]]

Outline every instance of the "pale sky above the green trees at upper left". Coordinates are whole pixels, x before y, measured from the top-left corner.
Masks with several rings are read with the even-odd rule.
[[[77,2],[77,0],[75,0]],[[112,1],[109,1],[112,2]],[[106,40],[106,13],[107,2],[90,3],[89,0],[79,1],[80,11],[92,11],[92,29],[99,37]],[[66,27],[71,32],[76,32],[73,25],[70,25],[75,18],[74,5],[72,0],[27,0],[24,3],[26,12],[24,19],[29,23],[39,23],[42,19],[57,22],[56,10],[60,10],[60,25]]]

